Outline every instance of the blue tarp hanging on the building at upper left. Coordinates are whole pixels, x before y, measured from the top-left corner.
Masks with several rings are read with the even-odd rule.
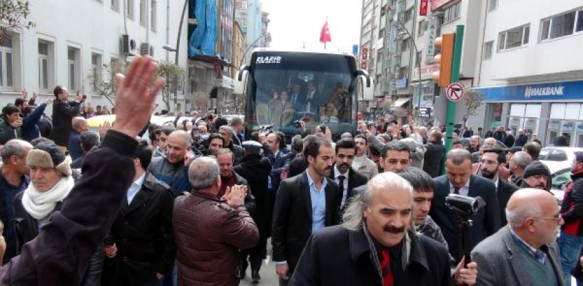
[[[189,56],[216,56],[219,21],[216,0],[196,0],[194,15],[197,26],[190,35]]]

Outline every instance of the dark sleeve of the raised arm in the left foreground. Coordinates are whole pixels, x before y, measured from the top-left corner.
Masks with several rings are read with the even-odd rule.
[[[0,267],[0,285],[80,285],[134,177],[137,141],[109,130],[84,161],[84,174],[51,222],[21,255]],[[80,207],[82,206],[82,207]]]

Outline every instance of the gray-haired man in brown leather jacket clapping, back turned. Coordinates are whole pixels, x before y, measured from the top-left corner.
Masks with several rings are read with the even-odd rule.
[[[234,185],[223,198],[219,164],[212,157],[193,160],[192,191],[176,198],[172,230],[181,285],[238,285],[239,249],[252,248],[259,231],[243,206],[247,188]]]

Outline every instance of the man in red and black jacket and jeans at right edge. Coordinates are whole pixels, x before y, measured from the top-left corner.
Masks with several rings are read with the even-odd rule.
[[[583,246],[583,152],[575,152],[571,172],[573,182],[564,193],[561,204],[564,224],[557,239],[565,285],[571,285],[571,270]]]

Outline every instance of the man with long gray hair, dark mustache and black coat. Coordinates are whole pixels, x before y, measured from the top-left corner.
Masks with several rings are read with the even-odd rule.
[[[372,178],[341,226],[312,235],[289,285],[450,285],[446,248],[415,233],[413,191],[392,172]]]

